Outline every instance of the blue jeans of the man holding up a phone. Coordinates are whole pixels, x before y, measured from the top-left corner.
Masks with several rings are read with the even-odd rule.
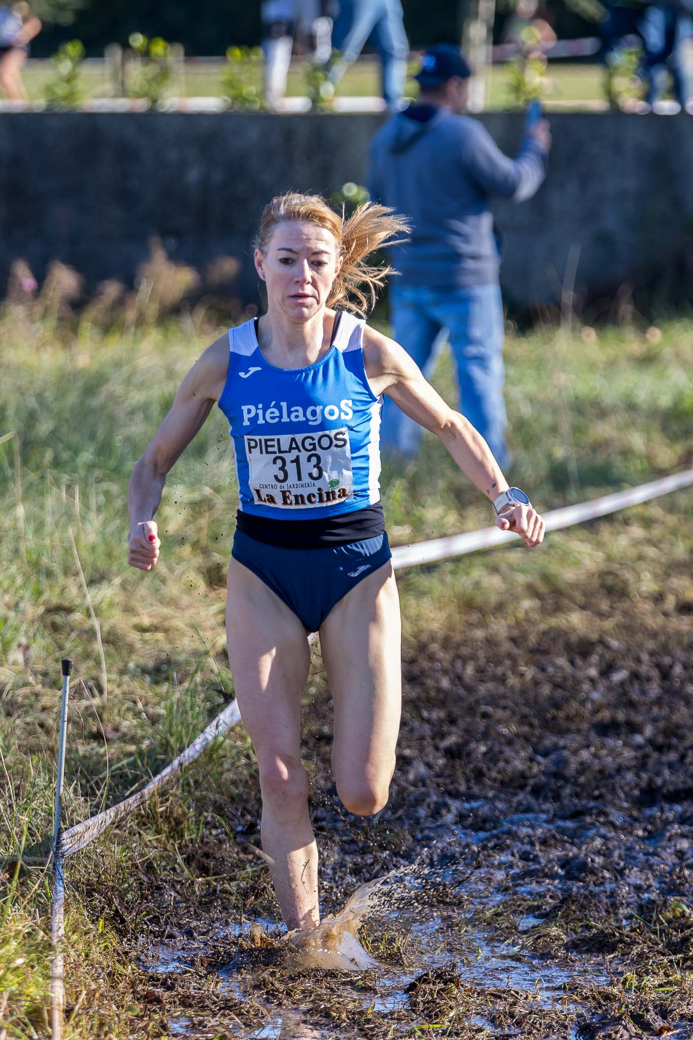
[[[391,285],[390,305],[394,338],[427,378],[436,361],[434,343],[436,339],[439,342],[439,333],[448,330],[457,368],[460,412],[479,431],[499,464],[507,466],[510,457],[505,444],[505,330],[500,286],[438,289],[395,282]],[[380,433],[383,450],[414,456],[421,445],[421,434],[419,423],[385,397]]]

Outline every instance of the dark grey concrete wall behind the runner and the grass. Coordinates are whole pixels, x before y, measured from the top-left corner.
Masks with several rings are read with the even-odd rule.
[[[245,260],[262,205],[288,188],[329,192],[366,178],[378,115],[17,113],[0,115],[0,286],[11,261],[39,276],[57,258],[94,285],[132,283],[158,235],[204,268]],[[516,113],[483,116],[509,153]],[[549,179],[535,199],[500,203],[506,296],[551,303],[577,262],[577,286],[613,294],[657,285],[674,301],[693,282],[693,119],[552,116]],[[569,276],[569,270],[568,270]],[[568,277],[568,282],[570,278]]]

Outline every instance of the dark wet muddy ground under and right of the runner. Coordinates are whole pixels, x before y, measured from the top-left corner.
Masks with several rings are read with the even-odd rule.
[[[407,648],[398,768],[371,821],[337,799],[323,688],[304,712],[322,909],[404,868],[363,933],[382,972],[279,961],[239,776],[124,920],[142,1008],[191,1037],[693,1037],[687,621],[623,616],[606,636],[486,619]]]

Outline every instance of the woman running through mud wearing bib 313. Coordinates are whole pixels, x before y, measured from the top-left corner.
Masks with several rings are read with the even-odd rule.
[[[152,518],[166,474],[218,404],[240,498],[229,658],[258,758],[263,850],[289,929],[320,919],[300,758],[308,633],[320,633],[335,703],[332,769],[346,808],[364,816],[381,809],[395,769],[400,616],[378,484],[382,395],[439,437],[494,505],[499,527],[528,546],[543,539],[543,521],[524,492],[508,488],[486,442],[401,346],[352,313],[372,305],[390,271],[365,258],[403,230],[381,206],[366,204],[345,220],[316,196],[273,199],[255,250],[267,313],[205,350],[128,490],[128,562],[149,571],[161,547]]]

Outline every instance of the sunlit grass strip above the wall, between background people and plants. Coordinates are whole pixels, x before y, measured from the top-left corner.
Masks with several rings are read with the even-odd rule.
[[[411,74],[416,68],[417,62],[412,61],[409,70]],[[190,66],[185,72],[183,82],[178,84],[171,93],[178,94],[180,92],[183,97],[218,97],[223,94],[222,71],[221,59],[217,64],[210,67]],[[553,89],[549,96],[550,101],[555,100],[561,103],[590,102],[604,97],[604,74],[601,66],[560,62],[550,64],[549,74],[554,81]],[[39,101],[44,97],[46,82],[51,75],[49,67],[29,62],[24,73],[24,81],[32,101]],[[260,70],[258,70],[252,82],[259,90],[262,89]],[[410,85],[414,86],[414,84]],[[303,95],[305,89],[303,68],[300,62],[293,62],[287,93],[290,96]],[[105,72],[95,69],[82,72],[82,90],[84,97],[87,98],[108,97],[112,93]],[[338,95],[350,97],[371,97],[378,96],[379,93],[379,66],[376,60],[371,59],[353,66],[344,76],[338,90]],[[492,109],[511,107],[507,66],[496,66],[492,70],[487,107]]]

